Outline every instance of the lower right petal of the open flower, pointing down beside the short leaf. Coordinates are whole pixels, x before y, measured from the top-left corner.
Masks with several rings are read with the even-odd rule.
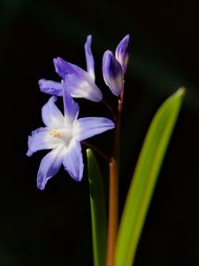
[[[81,153],[80,142],[74,138],[70,142],[70,145],[67,148],[65,157],[63,160],[65,170],[69,175],[76,181],[80,181],[83,176],[83,159]]]

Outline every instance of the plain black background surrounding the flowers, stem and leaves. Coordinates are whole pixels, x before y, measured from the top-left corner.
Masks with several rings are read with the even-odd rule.
[[[0,265],[93,264],[87,176],[77,184],[62,169],[40,192],[35,180],[44,153],[27,158],[27,136],[42,126],[41,107],[49,98],[40,92],[38,80],[58,80],[52,59],[60,56],[85,68],[83,44],[92,34],[96,83],[110,100],[101,73],[103,52],[114,51],[127,33],[132,47],[122,124],[120,210],[149,121],[165,98],[187,87],[134,265],[199,264],[197,3],[0,1]],[[82,116],[109,116],[100,104],[79,103]],[[107,133],[90,142],[108,153],[110,137]]]

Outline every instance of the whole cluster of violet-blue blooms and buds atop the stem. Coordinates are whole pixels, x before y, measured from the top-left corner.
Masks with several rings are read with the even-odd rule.
[[[52,95],[42,106],[42,121],[45,127],[36,129],[28,137],[27,156],[50,149],[41,161],[37,174],[37,187],[45,188],[48,180],[57,174],[63,165],[74,180],[83,176],[83,160],[80,142],[115,127],[113,121],[104,117],[79,118],[80,108],[73,98],[86,98],[93,102],[103,99],[95,79],[95,63],[91,51],[91,35],[85,43],[87,71],[64,59],[53,59],[60,82],[41,79],[42,92]],[[119,96],[123,90],[124,74],[128,61],[129,35],[119,43],[115,57],[111,51],[103,55],[103,79],[111,92]],[[56,106],[57,97],[63,98],[64,115]]]

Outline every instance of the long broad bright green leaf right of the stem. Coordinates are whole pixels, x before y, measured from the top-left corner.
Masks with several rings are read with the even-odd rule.
[[[116,244],[115,265],[132,266],[149,203],[154,192],[185,89],[167,98],[150,123],[126,198]]]

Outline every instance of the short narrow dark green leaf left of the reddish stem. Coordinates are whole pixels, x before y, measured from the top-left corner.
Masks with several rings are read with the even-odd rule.
[[[87,150],[87,157],[94,265],[105,266],[107,219],[103,180],[92,150]]]

